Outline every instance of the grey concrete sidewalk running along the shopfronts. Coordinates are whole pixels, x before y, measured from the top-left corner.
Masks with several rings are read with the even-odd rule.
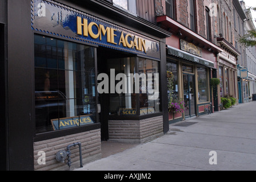
[[[174,123],[169,133],[76,171],[256,170],[256,102]],[[217,164],[210,164],[215,151]],[[216,160],[214,160],[216,161]]]

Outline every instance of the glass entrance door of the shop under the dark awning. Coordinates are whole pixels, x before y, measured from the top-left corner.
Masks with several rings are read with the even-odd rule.
[[[195,76],[183,73],[185,118],[195,116]]]

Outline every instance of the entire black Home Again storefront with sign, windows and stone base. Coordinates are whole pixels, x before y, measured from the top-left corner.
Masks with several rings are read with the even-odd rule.
[[[75,168],[80,152],[83,163],[101,158],[102,140],[141,143],[169,130],[162,102],[169,32],[111,11],[109,2],[5,5],[7,170],[69,169],[55,155],[81,143]]]

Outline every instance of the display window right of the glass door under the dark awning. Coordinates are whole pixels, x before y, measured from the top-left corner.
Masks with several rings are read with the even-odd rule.
[[[207,102],[209,101],[209,79],[207,76],[206,68],[197,68],[198,75],[198,101]]]

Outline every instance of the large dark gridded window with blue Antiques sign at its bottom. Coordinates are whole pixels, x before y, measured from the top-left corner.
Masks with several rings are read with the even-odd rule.
[[[37,133],[96,122],[94,48],[35,35]]]

